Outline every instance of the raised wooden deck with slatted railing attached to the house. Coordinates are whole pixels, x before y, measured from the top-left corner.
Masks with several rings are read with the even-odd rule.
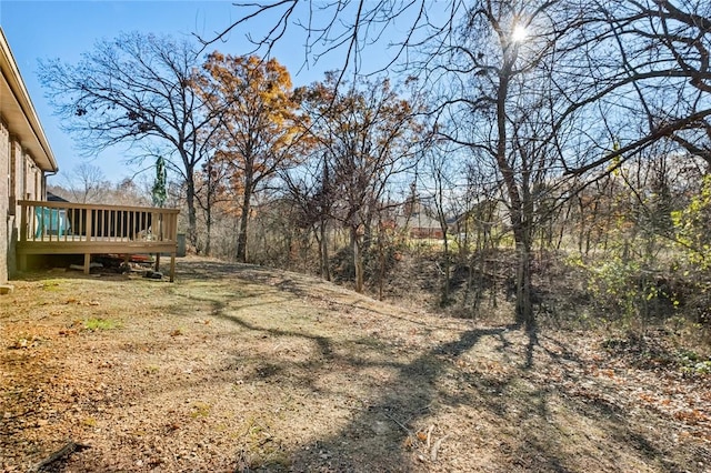
[[[83,254],[89,273],[92,254],[170,254],[174,281],[178,209],[20,201],[17,253],[20,270],[30,254]]]

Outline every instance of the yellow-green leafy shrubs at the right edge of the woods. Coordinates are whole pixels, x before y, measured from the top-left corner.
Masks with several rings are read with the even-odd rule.
[[[630,182],[623,189],[634,191]],[[568,264],[585,272],[598,320],[639,328],[652,318],[680,316],[693,324],[694,336],[703,335],[711,320],[711,177],[691,197],[687,191],[675,200],[668,188],[658,188],[638,191],[638,205],[614,214],[603,253]]]

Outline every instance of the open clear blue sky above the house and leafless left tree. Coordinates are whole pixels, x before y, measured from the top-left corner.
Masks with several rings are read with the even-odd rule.
[[[50,182],[62,183],[62,174],[70,174],[79,163],[88,160],[79,157],[71,137],[60,130],[59,120],[37,80],[38,60],[59,58],[76,63],[98,39],[114,38],[121,31],[173,37],[198,32],[210,37],[238,14],[231,1],[0,0],[0,24],[60,167],[60,174]],[[251,51],[240,33],[232,33],[227,42],[217,43],[210,50],[213,49],[230,54]],[[292,73],[294,84],[320,80],[324,70],[338,66],[320,62],[318,68],[311,67],[294,77],[304,59],[299,39],[280,43],[273,56]],[[89,162],[102,169],[107,179],[114,182],[132,178],[140,170],[123,162],[120,150],[107,151]]]

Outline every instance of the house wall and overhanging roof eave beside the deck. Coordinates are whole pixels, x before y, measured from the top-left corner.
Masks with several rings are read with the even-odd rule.
[[[16,271],[18,201],[44,200],[47,173],[59,169],[0,28],[0,284]]]

